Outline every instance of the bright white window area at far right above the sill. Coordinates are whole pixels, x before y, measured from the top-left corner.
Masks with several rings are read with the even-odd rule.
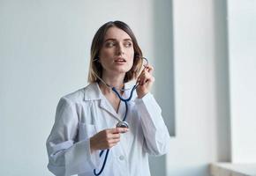
[[[256,1],[229,0],[232,161],[256,162]]]

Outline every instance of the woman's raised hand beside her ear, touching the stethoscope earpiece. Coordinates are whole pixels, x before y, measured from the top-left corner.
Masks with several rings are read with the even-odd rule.
[[[154,83],[154,77],[152,72],[154,68],[151,65],[144,66],[144,70],[140,73],[137,83],[139,84],[136,91],[138,98],[141,99],[147,92],[150,92],[151,87]]]

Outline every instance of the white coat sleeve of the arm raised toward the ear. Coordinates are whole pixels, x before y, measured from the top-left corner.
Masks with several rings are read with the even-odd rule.
[[[160,156],[169,150],[169,132],[162,119],[161,107],[154,96],[147,93],[142,99],[135,99],[141,119],[141,127],[146,143],[143,145],[150,155]]]

